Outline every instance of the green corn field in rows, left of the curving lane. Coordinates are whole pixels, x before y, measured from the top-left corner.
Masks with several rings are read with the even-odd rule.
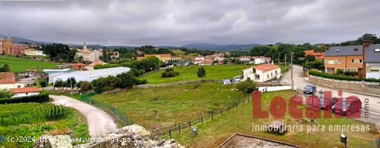
[[[39,123],[64,118],[68,110],[50,103],[17,103],[0,105],[0,125]]]

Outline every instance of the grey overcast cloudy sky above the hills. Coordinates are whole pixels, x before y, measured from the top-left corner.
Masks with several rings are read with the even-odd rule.
[[[0,33],[101,45],[332,43],[380,35],[380,1],[1,1]]]

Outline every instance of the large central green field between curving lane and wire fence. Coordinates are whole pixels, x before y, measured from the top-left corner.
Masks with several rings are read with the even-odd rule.
[[[198,118],[199,114],[233,104],[241,92],[233,85],[202,83],[200,85],[177,85],[130,89],[120,94],[93,96],[97,101],[110,103],[146,128],[167,127],[175,123]],[[155,117],[158,111],[158,117]]]

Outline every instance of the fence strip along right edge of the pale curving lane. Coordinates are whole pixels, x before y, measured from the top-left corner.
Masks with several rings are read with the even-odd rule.
[[[95,107],[99,107],[99,108],[106,109],[106,110],[110,111],[113,115],[115,115],[117,118],[119,118],[122,121],[122,123],[124,123],[124,125],[133,125],[133,120],[127,118],[124,114],[122,114],[122,112],[115,109],[115,107],[113,107],[111,104],[101,103],[99,101],[92,99],[91,96],[93,96],[93,95],[94,95],[93,93],[83,94],[80,97],[80,100],[85,102],[85,103],[94,105]]]

